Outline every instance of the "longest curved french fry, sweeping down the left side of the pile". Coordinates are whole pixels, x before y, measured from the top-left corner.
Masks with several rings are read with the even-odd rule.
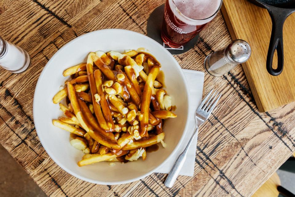
[[[105,139],[100,133],[95,132],[93,127],[87,123],[85,115],[81,112],[81,107],[74,89],[74,86],[68,82],[69,99],[73,107],[74,113],[81,124],[81,127],[98,143],[113,149],[120,149],[121,147],[109,139]],[[91,112],[90,112],[91,113]]]

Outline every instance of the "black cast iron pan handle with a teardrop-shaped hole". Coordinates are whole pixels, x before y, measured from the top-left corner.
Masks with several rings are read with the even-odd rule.
[[[268,11],[273,22],[273,27],[266,58],[266,69],[269,74],[277,76],[281,74],[284,66],[283,26],[286,18],[291,13],[282,10],[278,12],[279,10],[274,9],[268,9]],[[277,68],[273,69],[273,55],[275,50],[277,50]]]

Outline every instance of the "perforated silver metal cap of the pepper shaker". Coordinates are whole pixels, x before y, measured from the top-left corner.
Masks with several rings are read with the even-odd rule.
[[[251,47],[244,40],[234,40],[227,47],[227,55],[238,63],[246,62],[251,56]]]

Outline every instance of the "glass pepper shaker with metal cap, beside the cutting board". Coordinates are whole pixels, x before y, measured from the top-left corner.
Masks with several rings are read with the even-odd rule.
[[[250,55],[251,48],[246,41],[234,40],[228,46],[209,54],[204,66],[209,74],[220,77],[238,64],[246,62]]]

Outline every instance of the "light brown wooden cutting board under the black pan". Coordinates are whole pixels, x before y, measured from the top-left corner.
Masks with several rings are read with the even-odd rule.
[[[272,28],[268,11],[247,0],[224,0],[221,10],[232,39],[243,39],[252,48],[242,67],[258,110],[265,112],[295,101],[295,14],[284,24],[284,70],[272,76],[265,63]]]

